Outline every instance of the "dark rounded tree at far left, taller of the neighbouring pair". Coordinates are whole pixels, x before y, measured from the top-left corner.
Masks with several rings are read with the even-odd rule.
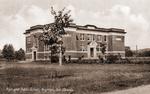
[[[3,47],[2,55],[8,61],[13,60],[15,57],[14,47],[12,44],[6,44]]]

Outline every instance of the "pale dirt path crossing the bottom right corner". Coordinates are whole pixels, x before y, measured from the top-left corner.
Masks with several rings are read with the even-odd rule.
[[[102,94],[150,94],[150,85]]]

